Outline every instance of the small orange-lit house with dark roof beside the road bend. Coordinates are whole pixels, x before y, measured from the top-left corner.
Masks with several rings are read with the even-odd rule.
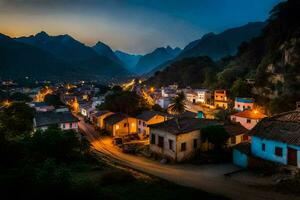
[[[105,129],[114,137],[137,133],[137,119],[123,113],[115,113],[104,119]]]

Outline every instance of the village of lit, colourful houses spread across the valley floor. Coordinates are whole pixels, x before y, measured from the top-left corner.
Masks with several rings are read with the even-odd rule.
[[[9,84],[13,85],[12,82],[2,83]],[[268,117],[261,107],[256,106],[255,99],[230,99],[226,90],[179,89],[176,84],[155,89],[136,80],[121,86],[118,87],[136,92],[149,104],[159,105],[161,111],[149,109],[130,116],[101,110],[99,108],[106,96],[113,91],[99,95],[99,88],[84,81],[49,84],[31,90],[14,85],[11,92],[30,94],[33,98],[28,104],[36,110],[34,131],[56,125],[62,130],[74,130],[86,137],[88,133],[84,132],[82,126],[87,124],[99,136],[110,138],[111,144],[120,151],[133,154],[142,151],[164,163],[188,162],[199,155],[206,155],[205,152],[222,148],[224,151],[218,153],[224,156],[219,157],[223,157],[223,160],[228,157],[243,168],[255,168],[253,165],[256,162],[253,160],[256,158],[300,167],[299,108]],[[178,108],[178,105],[174,105],[174,99],[181,93],[184,94],[181,102],[183,107],[179,105]],[[57,95],[62,104],[54,106],[44,102],[49,94]],[[3,106],[8,105],[9,102],[3,102]],[[226,115],[226,120],[216,118],[217,114],[214,113],[229,109],[232,112]],[[216,127],[221,127],[221,130]],[[218,141],[222,137],[224,141]]]

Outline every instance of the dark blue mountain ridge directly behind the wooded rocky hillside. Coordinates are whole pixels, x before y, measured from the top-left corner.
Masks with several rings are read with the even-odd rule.
[[[201,39],[189,43],[174,61],[197,56],[209,56],[214,60],[219,60],[220,58],[234,55],[242,42],[258,36],[265,25],[265,22],[252,22],[244,26],[225,30],[219,34],[205,34]],[[172,62],[168,61],[156,66],[149,75],[164,69]]]

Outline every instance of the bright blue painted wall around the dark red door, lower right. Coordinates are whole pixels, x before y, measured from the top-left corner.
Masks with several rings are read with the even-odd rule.
[[[265,144],[265,151],[262,150],[262,144]],[[275,147],[282,148],[282,156],[275,155]],[[266,140],[256,136],[251,137],[251,152],[254,156],[279,162],[282,164],[287,164],[287,148],[292,147],[296,149],[298,157],[298,167],[300,167],[300,147],[294,145],[288,145],[286,143],[277,142],[273,140]]]

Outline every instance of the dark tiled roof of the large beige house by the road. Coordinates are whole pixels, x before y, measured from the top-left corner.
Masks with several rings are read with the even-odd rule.
[[[163,130],[173,135],[180,135],[218,124],[220,123],[218,123],[216,120],[180,117],[173,118],[159,124],[150,125],[150,128]]]

